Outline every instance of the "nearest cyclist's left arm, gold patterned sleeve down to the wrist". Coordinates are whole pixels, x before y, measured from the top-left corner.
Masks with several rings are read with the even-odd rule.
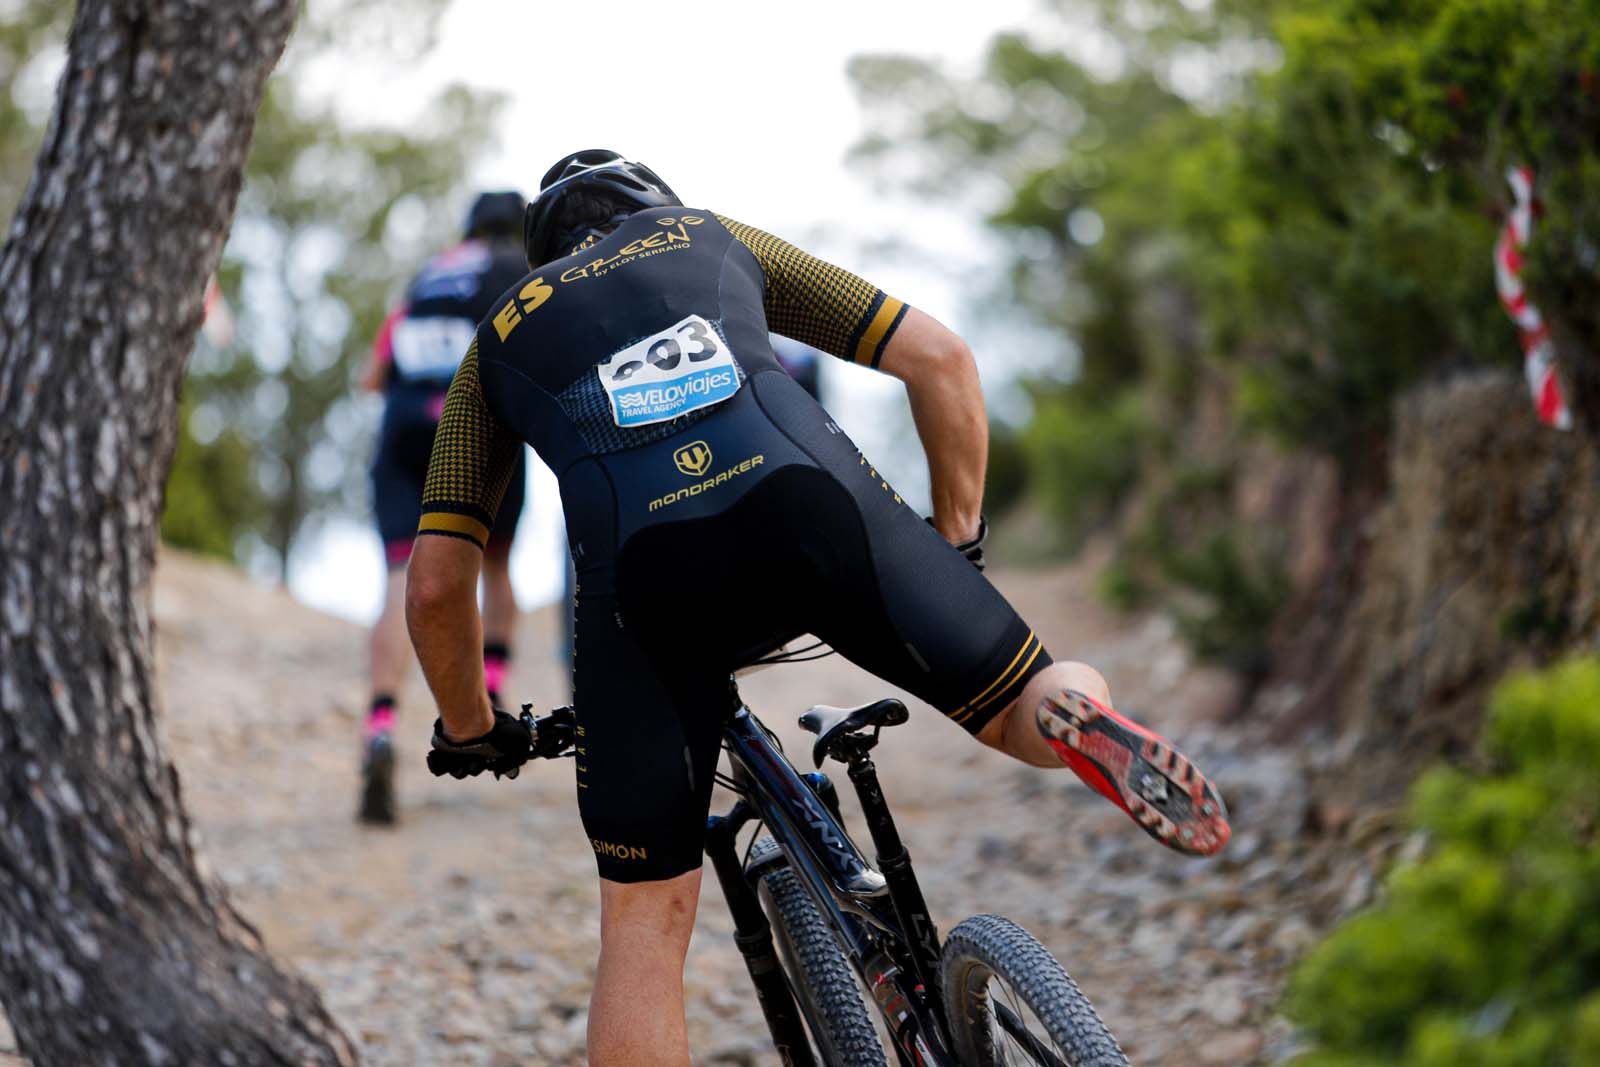
[[[483,397],[477,341],[450,382],[422,488],[422,520],[406,574],[406,625],[445,733],[494,725],[483,688],[478,568],[522,443]]]

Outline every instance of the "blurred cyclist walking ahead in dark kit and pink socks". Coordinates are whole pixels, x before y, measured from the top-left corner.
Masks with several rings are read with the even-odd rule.
[[[373,456],[373,512],[384,541],[389,582],[370,641],[371,705],[365,726],[360,817],[395,821],[395,694],[411,649],[405,633],[405,565],[421,515],[422,480],[445,390],[482,320],[507,285],[528,269],[522,250],[523,198],[485,192],[467,211],[462,242],[434,256],[390,312],[362,374],[362,387],[384,394],[384,421]],[[498,693],[510,656],[517,601],[510,590],[510,539],[522,514],[523,462],[517,450],[506,501],[483,552],[483,673]],[[496,701],[498,702],[498,701]]]

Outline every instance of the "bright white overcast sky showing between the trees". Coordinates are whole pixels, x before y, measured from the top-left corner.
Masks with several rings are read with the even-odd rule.
[[[406,122],[453,80],[499,90],[510,107],[499,149],[475,173],[480,187],[531,192],[560,155],[611,147],[650,163],[685,202],[811,245],[962,328],[949,267],[958,272],[970,256],[976,270],[992,250],[973,222],[885,198],[845,165],[864,133],[845,66],[859,53],[899,51],[974,69],[989,38],[1022,26],[1035,8],[1037,0],[459,0],[426,64],[406,72],[330,67],[314,88],[371,122]],[[944,270],[872,262],[856,245],[930,227],[955,258]],[[898,382],[846,366],[827,371],[829,406],[867,454],[883,450],[885,434],[907,430]],[[918,499],[920,466],[894,472],[886,458],[880,466]],[[525,609],[560,589],[555,483],[530,467],[538,469],[514,555]],[[293,560],[293,592],[354,619],[374,617],[382,557],[370,526],[334,523],[306,541]]]

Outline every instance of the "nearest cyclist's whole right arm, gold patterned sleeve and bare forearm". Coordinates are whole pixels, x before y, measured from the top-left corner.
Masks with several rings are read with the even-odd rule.
[[[933,525],[952,544],[976,537],[989,421],[966,342],[870,282],[771,234],[717,218],[762,267],[770,330],[906,382],[928,456]]]

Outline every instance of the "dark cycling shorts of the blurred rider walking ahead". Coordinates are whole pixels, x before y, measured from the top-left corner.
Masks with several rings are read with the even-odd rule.
[[[378,536],[384,541],[389,566],[405,566],[411,558],[411,542],[422,517],[422,483],[434,451],[442,395],[434,390],[394,387],[384,403],[384,421],[373,456],[373,515]],[[517,469],[506,486],[506,498],[490,536],[491,544],[506,544],[517,533],[522,517],[528,472],[522,450]]]

